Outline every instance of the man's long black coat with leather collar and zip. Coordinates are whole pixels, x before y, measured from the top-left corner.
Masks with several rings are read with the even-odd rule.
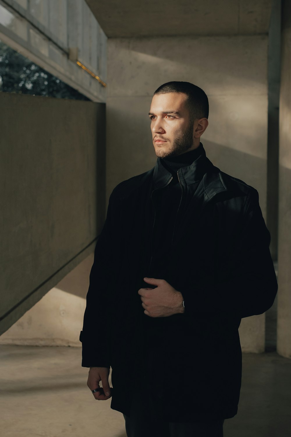
[[[277,293],[270,232],[257,190],[213,166],[203,147],[178,176],[184,208],[158,264],[151,194],[171,173],[157,158],[151,170],[113,189],[90,273],[82,366],[111,366],[111,408],[127,416],[134,374],[141,373],[161,420],[227,419],[240,396],[241,318],[264,313]],[[144,277],[180,291],[185,312],[146,316],[137,293],[150,287]]]

